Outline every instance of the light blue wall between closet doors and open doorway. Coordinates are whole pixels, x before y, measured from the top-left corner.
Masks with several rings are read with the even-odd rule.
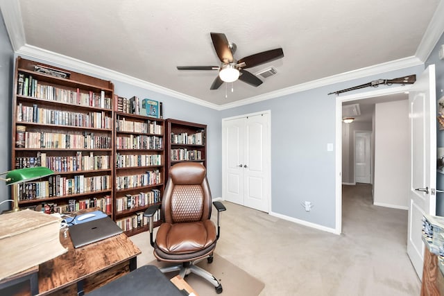
[[[271,110],[271,211],[334,229],[336,164],[327,143],[336,146],[336,110],[335,96],[327,94],[379,78],[418,74],[423,69],[422,65],[411,67],[223,110],[222,118]],[[309,212],[300,204],[305,200],[314,204]]]

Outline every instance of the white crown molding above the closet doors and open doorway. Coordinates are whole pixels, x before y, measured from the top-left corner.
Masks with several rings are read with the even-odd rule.
[[[414,67],[424,64],[415,56],[411,56],[409,58],[402,58],[400,60],[393,60],[391,62],[384,62],[382,64],[376,64],[371,67],[361,68],[353,71],[344,72],[341,74],[337,74],[334,76],[329,76],[325,78],[321,78],[318,80],[312,80],[309,82],[301,83],[300,85],[293,85],[292,87],[287,87],[284,89],[280,89],[275,92],[268,92],[266,94],[261,94],[259,96],[253,96],[251,98],[246,98],[241,101],[236,101],[233,103],[228,103],[225,105],[221,105],[220,110],[226,110],[234,107],[240,107],[243,105],[249,105],[261,101],[266,101],[271,98],[278,98],[280,96],[287,96],[289,94],[295,94],[297,92],[304,92],[309,89],[315,89],[317,87],[325,87],[327,85],[332,85],[334,83],[345,82],[348,80],[353,80],[357,78],[364,78],[367,76],[373,76],[380,73],[386,73],[389,71],[395,71],[404,69],[407,67]]]

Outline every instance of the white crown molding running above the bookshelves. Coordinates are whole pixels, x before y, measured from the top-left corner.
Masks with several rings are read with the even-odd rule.
[[[128,85],[134,85],[135,87],[142,87],[143,89],[148,89],[153,92],[172,96],[173,98],[179,98],[180,100],[201,105],[203,107],[208,107],[214,110],[219,110],[220,107],[219,105],[200,100],[199,98],[195,98],[194,96],[188,96],[186,94],[173,91],[172,89],[167,89],[166,87],[161,87],[160,85],[155,85],[151,82],[147,82],[139,78],[119,73],[105,67],[100,67],[95,64],[90,64],[89,62],[85,62],[83,60],[70,58],[67,55],[61,55],[60,53],[54,53],[53,51],[40,49],[39,47],[31,46],[28,44],[22,46],[19,50],[16,51],[16,53],[18,55],[26,55],[31,58],[44,60],[44,62],[48,62],[49,64],[55,63],[58,64],[58,66],[60,67],[68,67],[75,69],[76,71],[89,73],[90,75],[101,76],[110,80],[117,80],[120,82],[128,83]]]

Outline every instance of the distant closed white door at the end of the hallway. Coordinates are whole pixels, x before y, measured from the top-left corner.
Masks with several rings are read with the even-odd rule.
[[[355,182],[371,183],[371,132],[355,132]]]

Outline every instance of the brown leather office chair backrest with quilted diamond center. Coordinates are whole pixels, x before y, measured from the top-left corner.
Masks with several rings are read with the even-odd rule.
[[[196,222],[211,217],[211,191],[205,166],[181,162],[171,166],[162,197],[162,218],[167,223]]]

